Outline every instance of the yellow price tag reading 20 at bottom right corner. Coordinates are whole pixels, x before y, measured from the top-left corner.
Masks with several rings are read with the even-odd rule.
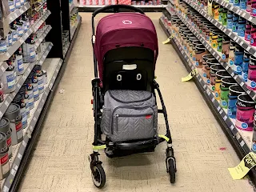
[[[242,161],[233,168],[228,168],[233,179],[241,179],[246,176],[246,174],[256,166],[256,154],[250,152],[246,154]]]

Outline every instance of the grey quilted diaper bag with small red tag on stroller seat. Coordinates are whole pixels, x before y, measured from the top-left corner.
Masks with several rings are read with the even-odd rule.
[[[154,95],[142,90],[108,90],[101,128],[112,142],[154,138],[158,134]]]

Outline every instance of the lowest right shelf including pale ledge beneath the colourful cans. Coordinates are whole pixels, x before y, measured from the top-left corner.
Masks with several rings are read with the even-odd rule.
[[[160,22],[163,30],[165,30],[166,35],[168,37],[170,37],[172,29],[170,28],[170,25],[168,25],[168,18],[163,16],[162,18],[160,18],[159,22]],[[196,37],[196,35],[194,37]],[[245,153],[249,153],[250,147],[252,145],[252,143],[251,143],[252,134],[248,135],[247,132],[236,128],[234,118],[230,118],[230,115],[228,114],[228,110],[225,108],[222,108],[222,106],[220,105],[220,102],[216,99],[216,97],[214,95],[214,91],[212,90],[212,86],[210,86],[210,84],[206,83],[206,78],[204,77],[205,72],[203,71],[203,69],[197,68],[195,65],[195,62],[193,63],[193,58],[191,58],[189,55],[190,52],[187,50],[186,46],[182,46],[182,42],[180,42],[180,40],[178,40],[178,35],[173,34],[173,40],[174,40],[175,44],[178,46],[178,49],[181,52],[182,57],[186,60],[186,64],[188,66],[190,66],[190,69],[198,70],[198,74],[195,76],[195,78],[197,78],[197,81],[200,83],[203,90],[206,91],[207,97],[210,99],[210,102],[213,103],[213,106],[215,107],[215,109],[218,110],[220,117],[223,119],[224,122],[226,122],[226,125],[228,126],[231,133],[233,134],[232,136],[237,138],[240,146],[245,151]]]

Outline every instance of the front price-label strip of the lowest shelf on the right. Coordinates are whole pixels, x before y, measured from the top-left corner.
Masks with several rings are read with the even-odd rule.
[[[166,29],[161,19],[159,19],[159,23],[166,35],[170,37],[170,32]],[[192,69],[194,69],[193,64],[190,62],[190,58],[186,55],[186,52],[182,49],[182,46],[179,45],[178,41],[174,38],[171,40],[171,43],[174,46],[174,50],[176,50],[177,54],[181,58],[182,63],[186,67],[186,70],[190,72]],[[222,110],[222,107],[219,106],[218,102],[214,99],[213,94],[207,88],[201,76],[197,74],[193,79],[196,86],[198,86],[198,90],[200,90],[202,96],[204,97],[206,104],[214,114],[214,117],[220,123],[224,134],[226,134],[226,137],[234,147],[234,150],[237,152],[239,158],[242,159],[246,154],[250,152],[250,148],[245,144],[246,139],[242,138],[242,135],[235,128],[233,119],[228,118],[226,111]],[[248,174],[252,179],[252,182],[256,183],[256,169],[251,169]]]

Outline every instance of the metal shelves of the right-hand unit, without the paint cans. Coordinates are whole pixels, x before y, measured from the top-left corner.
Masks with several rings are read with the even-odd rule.
[[[226,26],[223,26],[220,22],[215,20],[214,18],[210,17],[210,15],[203,10],[201,6],[198,6],[198,2],[192,2],[190,0],[181,0],[180,2],[186,2],[187,5],[197,10],[199,14],[202,15],[203,18],[206,18],[210,23],[214,24],[214,26],[218,27],[219,30],[222,30],[224,34],[227,34],[231,39],[238,43],[238,45],[242,46],[244,50],[249,51],[250,54],[255,55],[256,47],[250,46],[248,42],[244,40],[244,38],[239,37],[237,33],[232,32],[231,30],[227,29]],[[250,18],[250,21],[253,21],[254,18],[248,17],[248,13],[244,14],[244,11],[238,10],[238,7],[230,6],[228,2],[222,2],[219,0],[214,0],[221,4],[222,6],[229,6],[229,9],[238,13],[243,18]],[[163,18],[170,19],[172,14],[177,15],[178,18],[186,25],[186,27],[194,34],[196,38],[202,43],[203,46],[209,51],[210,54],[214,56],[218,60],[218,62],[223,66],[223,68],[233,77],[238,85],[242,87],[243,90],[246,91],[250,98],[252,98],[256,102],[256,96],[254,90],[249,90],[246,87],[246,83],[243,82],[242,76],[235,74],[234,70],[230,66],[229,62],[223,62],[222,60],[222,53],[218,52],[218,50],[214,49],[208,40],[206,40],[205,36],[201,33],[198,28],[192,26],[190,22],[190,18],[186,17],[184,13],[180,9],[175,9],[174,13],[171,10],[171,7],[174,5],[173,2],[168,2],[168,6],[166,10],[163,11],[162,18],[159,19],[159,23],[162,26],[162,29],[165,31],[167,37],[170,37],[172,34],[170,29],[170,24],[163,21]],[[173,37],[174,36],[174,37]],[[190,55],[187,54],[187,51],[184,50],[184,47],[180,44],[178,38],[175,35],[172,35],[171,44],[174,46],[174,49],[177,51],[178,55],[182,59],[183,64],[186,66],[186,69],[190,72],[194,70],[196,66],[192,63]],[[186,48],[188,49],[188,48]],[[205,80],[202,78],[202,70],[198,68],[198,74],[194,76],[194,82],[198,86],[198,90],[201,91],[202,95],[204,96],[206,103],[210,107],[210,110],[213,112],[214,117],[218,119],[218,122],[222,126],[222,130],[226,134],[226,137],[230,140],[232,146],[234,146],[234,150],[236,150],[238,156],[243,158],[246,154],[250,153],[252,140],[253,140],[253,133],[250,131],[239,130],[235,126],[235,119],[229,118],[227,110],[223,109],[219,102],[214,98],[213,92],[211,92],[210,88],[206,85]],[[256,183],[256,169],[250,170],[250,178],[254,183]]]

